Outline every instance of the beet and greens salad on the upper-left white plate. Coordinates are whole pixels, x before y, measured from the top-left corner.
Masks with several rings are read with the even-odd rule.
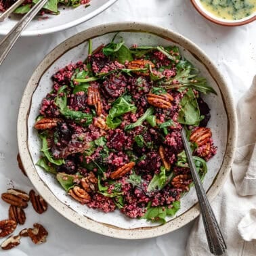
[[[5,12],[11,5],[13,5],[17,0],[0,0],[0,12]],[[60,6],[71,6],[77,7],[79,5],[89,6],[91,0],[48,0],[44,5],[40,14],[59,14]],[[20,5],[15,11],[14,14],[26,14],[29,12],[31,7],[37,3],[38,0],[25,0],[22,5]]]

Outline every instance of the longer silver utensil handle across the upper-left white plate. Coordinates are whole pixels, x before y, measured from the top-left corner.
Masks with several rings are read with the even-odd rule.
[[[45,5],[48,0],[39,0],[31,9],[30,11],[12,28],[9,33],[3,37],[3,40],[0,42],[0,65],[2,64],[3,60],[9,51],[16,43],[17,39],[20,37],[20,34],[26,28],[30,20],[32,20],[40,9]]]

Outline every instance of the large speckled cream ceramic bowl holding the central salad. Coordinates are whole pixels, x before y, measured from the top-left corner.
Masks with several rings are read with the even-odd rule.
[[[80,205],[66,195],[54,176],[35,166],[41,144],[33,125],[41,100],[51,90],[51,75],[70,62],[84,60],[87,56],[88,39],[93,39],[95,48],[102,43],[108,43],[117,31],[121,31],[120,35],[127,45],[177,45],[182,55],[200,70],[202,76],[207,77],[209,84],[217,91],[217,96],[205,97],[212,115],[209,127],[218,146],[217,155],[207,164],[209,171],[204,181],[208,198],[213,200],[226,180],[234,157],[236,114],[232,96],[219,70],[205,53],[182,35],[165,28],[135,22],[106,24],[85,30],[58,45],[39,64],[24,91],[18,115],[18,146],[29,179],[49,205],[64,217],[87,230],[106,236],[150,238],[176,230],[198,216],[200,211],[194,187],[182,198],[182,207],[175,217],[167,219],[165,225],[159,226],[144,219],[129,219],[119,211],[105,214]]]

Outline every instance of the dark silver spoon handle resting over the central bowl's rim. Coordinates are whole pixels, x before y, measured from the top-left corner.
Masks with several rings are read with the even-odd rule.
[[[188,165],[190,166],[192,179],[196,188],[196,194],[202,212],[202,221],[205,226],[205,233],[207,235],[209,249],[214,255],[223,255],[227,249],[226,242],[221,234],[221,230],[219,229],[213,209],[211,209],[211,205],[207,199],[205,190],[202,187],[200,177],[196,171],[196,166],[192,158],[192,152],[190,150],[190,145],[188,144],[186,131],[184,128],[182,128],[182,141],[184,143],[184,148],[188,157]]]

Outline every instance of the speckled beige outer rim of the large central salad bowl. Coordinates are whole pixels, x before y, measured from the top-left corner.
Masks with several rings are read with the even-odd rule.
[[[110,226],[106,223],[93,221],[88,217],[81,216],[78,213],[74,212],[74,210],[70,209],[67,205],[64,205],[64,203],[60,202],[60,200],[58,200],[58,198],[54,196],[54,194],[47,187],[47,184],[45,184],[37,174],[33,161],[30,157],[30,152],[28,150],[27,119],[30,111],[30,100],[28,99],[32,98],[33,93],[37,88],[37,84],[39,83],[41,76],[43,75],[45,70],[47,70],[47,68],[49,68],[49,66],[51,66],[56,61],[56,59],[60,58],[60,56],[62,56],[62,54],[64,54],[66,51],[76,47],[77,45],[80,45],[81,43],[87,41],[87,39],[91,37],[98,37],[106,33],[114,33],[115,31],[153,33],[158,35],[159,37],[168,39],[171,42],[179,43],[179,45],[184,48],[188,47],[189,45],[190,52],[194,54],[195,52],[197,53],[196,56],[198,60],[200,60],[200,62],[202,62],[202,64],[204,64],[208,68],[211,76],[213,77],[213,74],[215,74],[214,78],[217,85],[220,86],[220,96],[223,99],[223,103],[228,116],[228,140],[226,145],[226,154],[223,158],[221,168],[219,169],[219,172],[213,180],[213,184],[207,191],[207,197],[210,201],[213,200],[215,196],[217,196],[224,182],[226,182],[228,173],[230,173],[231,165],[234,160],[234,149],[236,146],[237,137],[237,121],[234,101],[232,100],[232,94],[230,93],[230,90],[226,85],[223,76],[220,74],[219,70],[217,70],[215,64],[211,62],[207,55],[198,46],[196,46],[194,43],[192,43],[192,41],[186,39],[182,35],[179,35],[178,33],[175,33],[172,30],[168,30],[161,26],[154,26],[141,22],[114,22],[100,26],[94,26],[93,28],[84,30],[81,33],[73,35],[69,39],[66,39],[64,42],[60,43],[60,45],[54,48],[49,54],[47,54],[47,56],[45,56],[45,58],[33,72],[22,95],[17,122],[18,149],[28,178],[35,186],[35,188],[37,188],[39,194],[41,194],[41,196],[45,198],[45,200],[49,203],[49,205],[51,205],[51,207],[53,207],[56,211],[58,211],[61,215],[63,215],[73,223],[76,223],[78,226],[81,226],[82,228],[85,228],[92,232],[114,238],[152,238],[177,230],[178,228],[181,228],[182,226],[195,219],[200,213],[198,203],[196,203],[185,213],[182,213],[182,215],[171,219],[171,221],[168,221],[167,223],[165,223],[165,225],[162,226],[122,229]]]

